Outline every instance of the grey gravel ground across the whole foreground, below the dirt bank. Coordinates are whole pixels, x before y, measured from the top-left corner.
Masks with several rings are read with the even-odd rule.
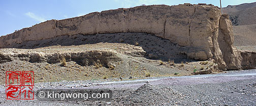
[[[256,69],[222,74],[152,78],[121,82],[73,81],[36,83],[41,88],[109,88],[109,101],[6,100],[0,87],[0,105],[255,105]]]

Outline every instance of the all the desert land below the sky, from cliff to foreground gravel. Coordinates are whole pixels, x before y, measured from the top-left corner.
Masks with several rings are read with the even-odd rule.
[[[139,6],[23,28],[0,37],[0,79],[33,71],[35,91],[106,88],[113,98],[6,100],[1,80],[0,105],[254,105],[253,9]]]

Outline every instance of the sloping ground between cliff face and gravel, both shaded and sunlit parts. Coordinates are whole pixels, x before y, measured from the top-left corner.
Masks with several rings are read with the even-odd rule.
[[[61,46],[73,44],[72,39],[75,39],[73,42],[78,46]],[[89,44],[82,45],[85,42],[80,39],[92,40],[88,41]],[[137,40],[138,44],[135,44],[134,40]],[[1,53],[5,56],[2,58],[9,58],[6,61],[10,61],[2,60],[5,63],[0,66],[1,69],[33,70],[37,73],[36,82],[122,80],[130,77],[142,79],[221,71],[214,70],[216,64],[213,60],[187,59],[186,56],[180,55],[182,47],[172,44],[169,40],[148,36],[145,33],[99,34],[96,37],[67,36],[53,41],[60,45],[37,49],[1,49]],[[48,42],[52,41],[43,41],[41,44]],[[33,43],[29,44],[33,45]],[[61,57],[66,61],[63,66],[60,62]],[[3,71],[2,79],[4,75]],[[4,84],[5,81],[2,80],[0,83]]]

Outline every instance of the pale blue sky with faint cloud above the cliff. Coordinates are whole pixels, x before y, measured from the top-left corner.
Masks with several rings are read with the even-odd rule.
[[[222,7],[255,0],[222,0]],[[51,19],[66,19],[104,10],[145,5],[206,3],[219,7],[219,0],[0,0],[0,36]]]

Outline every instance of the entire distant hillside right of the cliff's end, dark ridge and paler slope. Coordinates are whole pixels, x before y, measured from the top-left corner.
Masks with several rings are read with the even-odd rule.
[[[234,30],[234,45],[239,50],[256,51],[256,3],[241,4],[223,8],[229,14]]]

